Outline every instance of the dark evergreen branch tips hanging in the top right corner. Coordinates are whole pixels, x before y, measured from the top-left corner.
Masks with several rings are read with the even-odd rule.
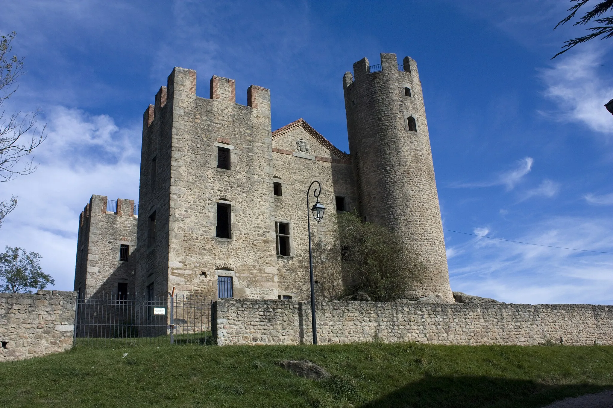
[[[575,16],[577,11],[579,11],[579,9],[581,9],[581,7],[584,6],[590,0],[570,0],[570,1],[571,3],[574,3],[573,6],[571,6],[571,8],[567,10],[571,13],[568,16],[566,16],[566,18],[564,18],[562,21],[560,21],[558,24],[556,24],[556,26],[554,27],[554,30],[558,28],[558,26],[568,23],[568,21],[570,21]],[[573,24],[574,26],[585,25],[592,21],[594,23],[598,23],[599,25],[586,28],[588,31],[591,31],[591,32],[589,34],[584,35],[583,37],[577,37],[576,39],[565,41],[564,42],[565,45],[562,46],[563,50],[555,54],[552,57],[552,59],[570,50],[575,45],[595,39],[596,37],[600,37],[600,35],[603,35],[601,40],[613,37],[613,17],[600,17],[601,15],[608,12],[609,10],[613,10],[613,0],[601,0],[600,3],[596,4],[596,6],[594,6],[592,10],[589,10],[583,15],[583,17],[579,18],[579,21]],[[600,18],[596,18],[596,17],[600,17]]]

